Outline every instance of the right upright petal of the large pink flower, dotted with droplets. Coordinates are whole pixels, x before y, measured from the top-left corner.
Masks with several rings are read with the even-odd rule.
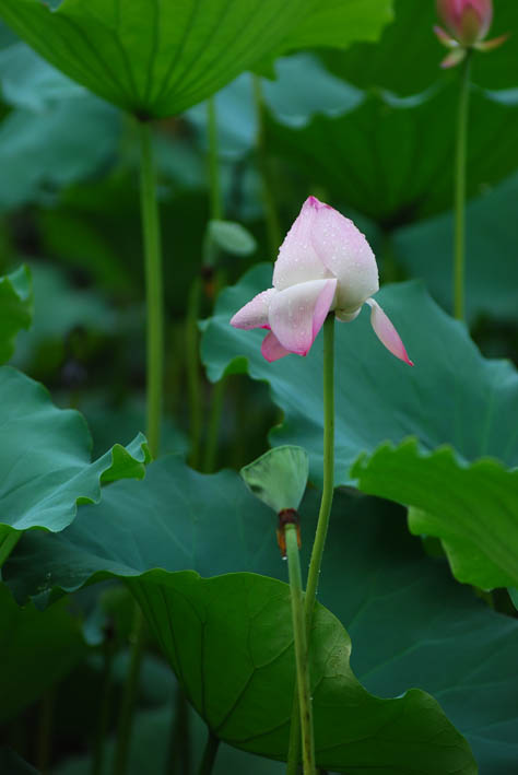
[[[365,236],[330,207],[320,208],[311,239],[322,263],[338,280],[337,309],[354,313],[379,289],[378,268]]]

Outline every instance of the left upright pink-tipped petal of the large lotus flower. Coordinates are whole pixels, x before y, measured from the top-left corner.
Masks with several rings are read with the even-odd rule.
[[[330,278],[311,243],[311,230],[320,208],[326,207],[309,197],[286,234],[273,269],[273,286],[284,291],[291,285]]]

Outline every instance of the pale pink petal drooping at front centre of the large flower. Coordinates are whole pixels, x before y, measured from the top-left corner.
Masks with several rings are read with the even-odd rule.
[[[290,352],[307,355],[331,307],[337,280],[313,280],[279,291],[269,309],[270,327]]]

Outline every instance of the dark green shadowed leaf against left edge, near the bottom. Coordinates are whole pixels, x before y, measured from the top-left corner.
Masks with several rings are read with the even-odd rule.
[[[44,612],[33,603],[20,608],[0,583],[0,723],[63,678],[85,650],[81,624],[68,613],[66,600]]]

